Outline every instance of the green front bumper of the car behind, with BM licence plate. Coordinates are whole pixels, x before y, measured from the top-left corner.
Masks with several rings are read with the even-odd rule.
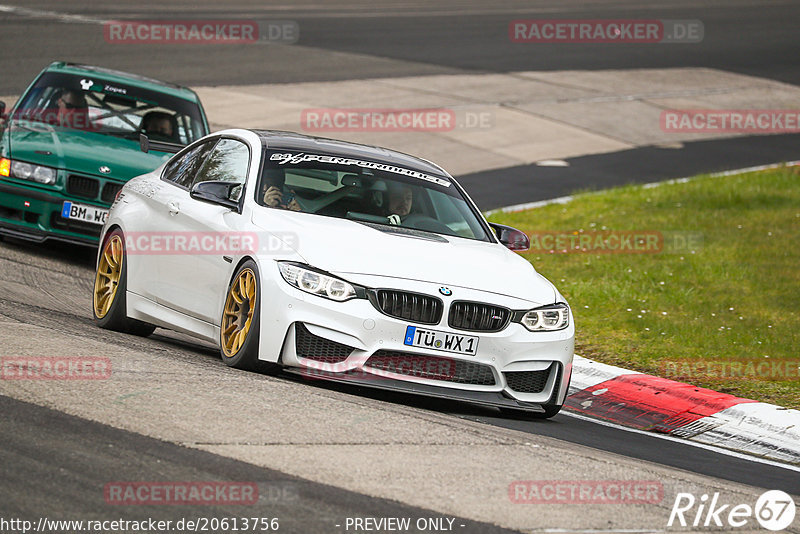
[[[107,205],[67,197],[57,190],[0,181],[0,233],[38,243],[58,240],[96,246],[102,225],[64,219],[61,209],[65,201],[108,209]]]

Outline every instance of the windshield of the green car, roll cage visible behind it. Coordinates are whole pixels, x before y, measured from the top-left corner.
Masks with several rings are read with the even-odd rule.
[[[12,119],[131,139],[145,133],[182,145],[208,133],[194,102],[97,76],[54,72],[39,77]]]

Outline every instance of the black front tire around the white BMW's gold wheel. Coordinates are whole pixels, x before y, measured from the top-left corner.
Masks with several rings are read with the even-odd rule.
[[[241,295],[241,286],[235,287],[239,283],[242,276],[248,276],[245,273],[252,275],[252,280],[255,283],[255,289],[251,297],[247,299],[245,306],[245,299],[242,299],[242,304],[237,304],[235,300],[232,302],[233,291],[239,291]],[[275,374],[280,371],[280,366],[271,362],[265,362],[258,359],[259,340],[260,340],[260,326],[261,326],[261,276],[258,272],[258,266],[253,260],[247,260],[242,263],[236,273],[233,275],[230,284],[228,284],[228,293],[225,297],[225,304],[222,308],[222,318],[220,319],[220,347],[219,352],[222,361],[229,367],[236,369],[244,369],[247,371],[256,371],[267,374]],[[231,307],[233,306],[233,307]],[[250,315],[250,311],[252,314]],[[235,315],[231,313],[236,312]],[[231,327],[240,330],[242,321],[245,317],[250,315],[250,324],[247,326],[244,341],[238,347],[231,346],[230,332]],[[245,320],[246,322],[246,320]],[[233,345],[237,343],[234,342]]]

